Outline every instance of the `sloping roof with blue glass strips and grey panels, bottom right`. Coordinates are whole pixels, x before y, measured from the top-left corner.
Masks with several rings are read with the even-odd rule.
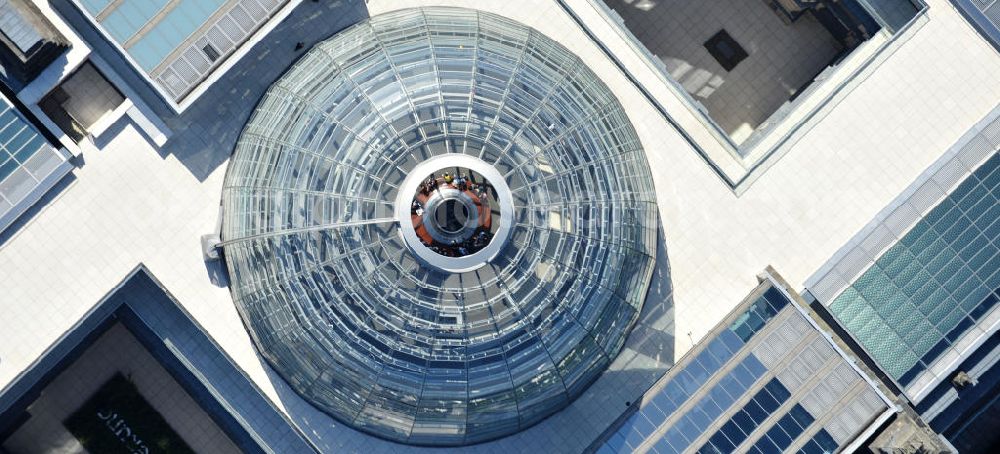
[[[836,452],[888,409],[777,288],[728,320],[599,453]]]

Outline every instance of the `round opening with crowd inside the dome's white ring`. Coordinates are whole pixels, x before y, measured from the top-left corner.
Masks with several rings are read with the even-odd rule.
[[[434,253],[473,255],[489,246],[500,228],[495,190],[489,179],[469,168],[431,173],[413,195],[410,222],[420,243]]]

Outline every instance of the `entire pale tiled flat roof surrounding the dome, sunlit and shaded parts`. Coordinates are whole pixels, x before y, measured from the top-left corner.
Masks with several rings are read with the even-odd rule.
[[[566,0],[640,81],[655,81],[588,0]],[[566,45],[611,87],[643,140],[663,223],[655,301],[625,351],[569,409],[481,451],[575,452],[687,352],[773,265],[793,287],[820,267],[964,131],[1000,100],[1000,55],[947,0],[794,148],[737,197],[608,61],[554,0],[304,2],[192,111],[170,120],[159,150],[130,123],[84,152],[84,164],[20,225],[0,237],[0,386],[6,386],[137,263],[145,263],[264,393],[314,442],[341,451],[401,451],[313,410],[276,380],[254,351],[225,287],[201,259],[215,228],[225,161],[249,109],[307,43],[365,14],[407,6],[486,8]],[[961,49],[957,52],[956,49]],[[660,98],[665,87],[647,89]],[[703,128],[677,103],[685,128]],[[201,113],[198,113],[201,112]],[[185,123],[186,122],[186,123]],[[673,336],[676,333],[676,336]],[[655,348],[652,348],[655,347]],[[596,410],[596,411],[595,411]],[[539,434],[541,431],[547,431]],[[417,450],[417,448],[413,448]]]

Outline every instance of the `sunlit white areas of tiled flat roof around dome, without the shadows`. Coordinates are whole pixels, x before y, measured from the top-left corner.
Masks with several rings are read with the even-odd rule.
[[[584,20],[596,17],[588,0],[567,3]],[[756,286],[755,275],[767,265],[801,288],[1000,101],[1000,55],[947,0],[928,3],[929,21],[740,196],[556,1],[370,0],[368,8],[371,15],[441,4],[487,9],[546,33],[604,79],[653,170],[675,305],[663,324],[672,317],[679,358]],[[602,38],[617,36],[602,33],[603,21],[590,25]],[[640,80],[655,79],[623,43],[605,45]],[[672,96],[655,85],[647,89]],[[686,109],[671,114],[684,127],[704,128]],[[0,388],[142,262],[281,406],[228,289],[210,282],[202,260],[199,237],[216,228],[225,165],[199,181],[173,155],[161,157],[131,124],[83,156],[85,165],[67,187],[0,244]]]

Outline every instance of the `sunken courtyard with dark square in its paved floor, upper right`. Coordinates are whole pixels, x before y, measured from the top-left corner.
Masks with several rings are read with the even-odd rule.
[[[881,28],[856,0],[605,3],[737,145]]]

